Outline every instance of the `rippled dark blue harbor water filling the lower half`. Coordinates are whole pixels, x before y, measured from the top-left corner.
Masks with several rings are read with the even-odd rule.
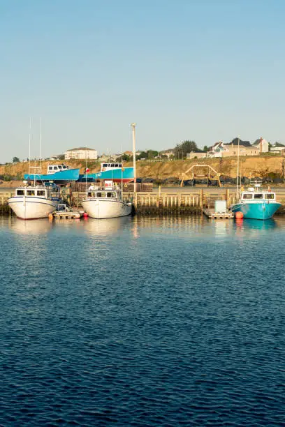
[[[284,426],[285,218],[0,218],[1,426]]]

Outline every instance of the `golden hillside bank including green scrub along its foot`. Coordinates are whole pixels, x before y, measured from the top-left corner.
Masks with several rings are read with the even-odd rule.
[[[47,171],[47,165],[59,163],[59,161],[43,160],[42,172]],[[80,173],[85,171],[85,160],[62,160],[69,167],[80,168]],[[100,161],[87,160],[90,173],[100,170]],[[224,181],[224,184],[234,184],[236,180],[237,158],[210,158],[191,160],[140,160],[137,162],[137,177],[143,181],[151,180],[155,185],[175,186],[179,185],[182,174],[187,172],[192,165],[206,164],[214,168]],[[32,165],[36,165],[33,161]],[[133,163],[126,162],[124,167],[132,167]],[[15,188],[22,183],[25,173],[29,172],[29,162],[10,163],[0,165],[0,187]],[[262,179],[266,183],[282,185],[285,183],[285,157],[284,156],[242,156],[240,157],[240,177]],[[191,174],[185,179],[191,179]]]

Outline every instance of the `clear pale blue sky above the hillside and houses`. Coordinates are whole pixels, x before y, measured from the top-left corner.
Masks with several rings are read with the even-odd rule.
[[[0,163],[285,143],[284,0],[0,0]]]

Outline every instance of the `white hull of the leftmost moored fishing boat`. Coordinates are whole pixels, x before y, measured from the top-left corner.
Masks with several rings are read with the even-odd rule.
[[[47,218],[50,213],[57,210],[57,200],[50,200],[43,197],[10,197],[8,205],[13,210],[17,218],[29,220]]]

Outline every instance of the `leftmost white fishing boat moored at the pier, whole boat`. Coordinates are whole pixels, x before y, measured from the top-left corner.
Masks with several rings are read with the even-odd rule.
[[[60,202],[57,186],[22,186],[8,199],[8,205],[17,218],[31,220],[47,218],[57,210]]]

